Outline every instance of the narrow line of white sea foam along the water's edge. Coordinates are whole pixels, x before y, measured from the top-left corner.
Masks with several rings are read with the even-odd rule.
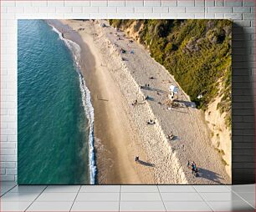
[[[64,41],[64,43],[67,45],[67,47],[70,49],[71,53],[74,57],[74,63],[77,67],[77,73],[79,74],[79,83],[80,83],[80,90],[82,93],[82,101],[84,106],[84,113],[89,120],[89,152],[90,152],[90,184],[95,184],[95,174],[96,174],[96,165],[95,165],[95,148],[94,148],[94,122],[95,122],[95,112],[94,108],[91,103],[90,98],[90,90],[86,87],[84,77],[82,73],[80,72],[79,68],[79,60],[80,60],[80,52],[81,48],[79,47],[79,44],[74,43],[73,41],[63,38],[62,33],[59,32],[57,28],[54,28],[53,25],[49,24],[55,33],[59,34],[59,38]]]

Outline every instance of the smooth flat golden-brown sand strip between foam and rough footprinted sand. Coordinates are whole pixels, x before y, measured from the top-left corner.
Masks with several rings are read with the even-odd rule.
[[[55,27],[63,32],[64,38],[73,40],[81,48],[80,68],[86,86],[90,89],[95,111],[95,161],[97,184],[150,184],[151,167],[138,168],[135,156],[145,159],[142,149],[136,148],[136,134],[132,132],[120,102],[123,102],[119,88],[102,66],[100,53],[92,45],[91,38],[86,43],[70,28]],[[85,38],[85,37],[83,37]]]

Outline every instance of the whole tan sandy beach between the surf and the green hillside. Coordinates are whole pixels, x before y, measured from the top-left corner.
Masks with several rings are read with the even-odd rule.
[[[95,109],[98,184],[231,184],[202,111],[144,47],[106,21],[61,22],[80,36],[64,32],[82,50],[81,71]],[[165,104],[170,84],[180,88],[172,109]],[[148,119],[155,124],[146,124]],[[171,132],[175,139],[166,139]],[[197,163],[200,177],[187,168],[188,160]]]

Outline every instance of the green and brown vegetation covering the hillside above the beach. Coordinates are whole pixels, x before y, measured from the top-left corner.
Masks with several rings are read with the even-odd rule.
[[[227,113],[226,124],[231,125],[231,21],[110,20],[110,25],[125,31],[142,26],[141,44],[174,76],[197,108],[207,109],[208,103],[223,95],[218,109]]]

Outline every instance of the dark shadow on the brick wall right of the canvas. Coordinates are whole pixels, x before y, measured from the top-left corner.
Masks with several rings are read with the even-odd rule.
[[[252,34],[252,33],[251,33]],[[246,29],[233,23],[232,49],[232,181],[255,182],[253,72],[255,63]],[[254,42],[254,41],[251,41]]]

